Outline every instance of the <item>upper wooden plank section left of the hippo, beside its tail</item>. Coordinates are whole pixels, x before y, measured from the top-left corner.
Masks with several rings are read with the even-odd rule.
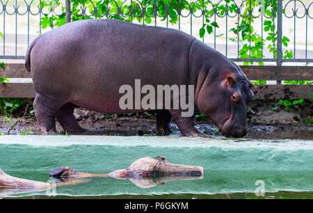
[[[6,63],[4,70],[0,68],[0,78],[31,78],[31,72],[26,70],[24,63]]]

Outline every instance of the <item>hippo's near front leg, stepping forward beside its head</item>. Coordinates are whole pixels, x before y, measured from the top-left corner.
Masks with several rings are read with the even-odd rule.
[[[182,117],[182,111],[178,109],[170,110],[170,114],[172,115],[172,120],[174,120],[182,133],[182,136],[203,136],[203,134],[194,127],[193,116]]]

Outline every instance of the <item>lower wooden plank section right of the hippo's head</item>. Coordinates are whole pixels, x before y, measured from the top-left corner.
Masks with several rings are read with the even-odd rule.
[[[256,85],[253,92],[255,99],[278,100],[278,99],[311,99],[309,93],[313,93],[313,85]]]

